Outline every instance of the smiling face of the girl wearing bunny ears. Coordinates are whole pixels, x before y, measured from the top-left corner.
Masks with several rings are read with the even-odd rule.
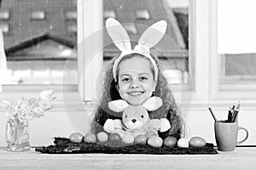
[[[119,63],[118,90],[131,105],[141,105],[151,97],[156,82],[148,59],[133,57]]]

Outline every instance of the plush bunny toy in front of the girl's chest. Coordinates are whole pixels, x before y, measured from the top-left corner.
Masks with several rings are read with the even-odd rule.
[[[125,100],[119,99],[108,103],[109,109],[123,112],[122,121],[108,119],[104,124],[104,130],[108,133],[119,133],[125,143],[133,143],[134,139],[143,134],[148,138],[158,136],[158,131],[166,132],[171,124],[166,118],[152,119],[148,117],[148,111],[154,111],[162,105],[159,97],[151,97],[143,105],[129,105]]]

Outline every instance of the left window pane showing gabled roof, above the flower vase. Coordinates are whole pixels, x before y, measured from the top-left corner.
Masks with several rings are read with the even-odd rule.
[[[78,83],[76,0],[2,1],[1,8],[4,84],[61,84],[63,76]]]

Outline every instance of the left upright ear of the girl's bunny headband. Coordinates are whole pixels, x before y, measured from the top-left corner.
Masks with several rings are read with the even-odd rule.
[[[109,36],[119,50],[122,52],[131,51],[131,42],[128,33],[118,20],[108,18],[106,20],[106,27]]]

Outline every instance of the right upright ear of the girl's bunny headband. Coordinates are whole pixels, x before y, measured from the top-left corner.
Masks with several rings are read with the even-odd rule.
[[[160,20],[154,23],[154,25],[148,27],[140,37],[137,48],[141,48],[143,51],[145,49],[149,50],[149,48],[152,48],[155,44],[160,42],[160,39],[165,35],[166,27],[166,20]]]

